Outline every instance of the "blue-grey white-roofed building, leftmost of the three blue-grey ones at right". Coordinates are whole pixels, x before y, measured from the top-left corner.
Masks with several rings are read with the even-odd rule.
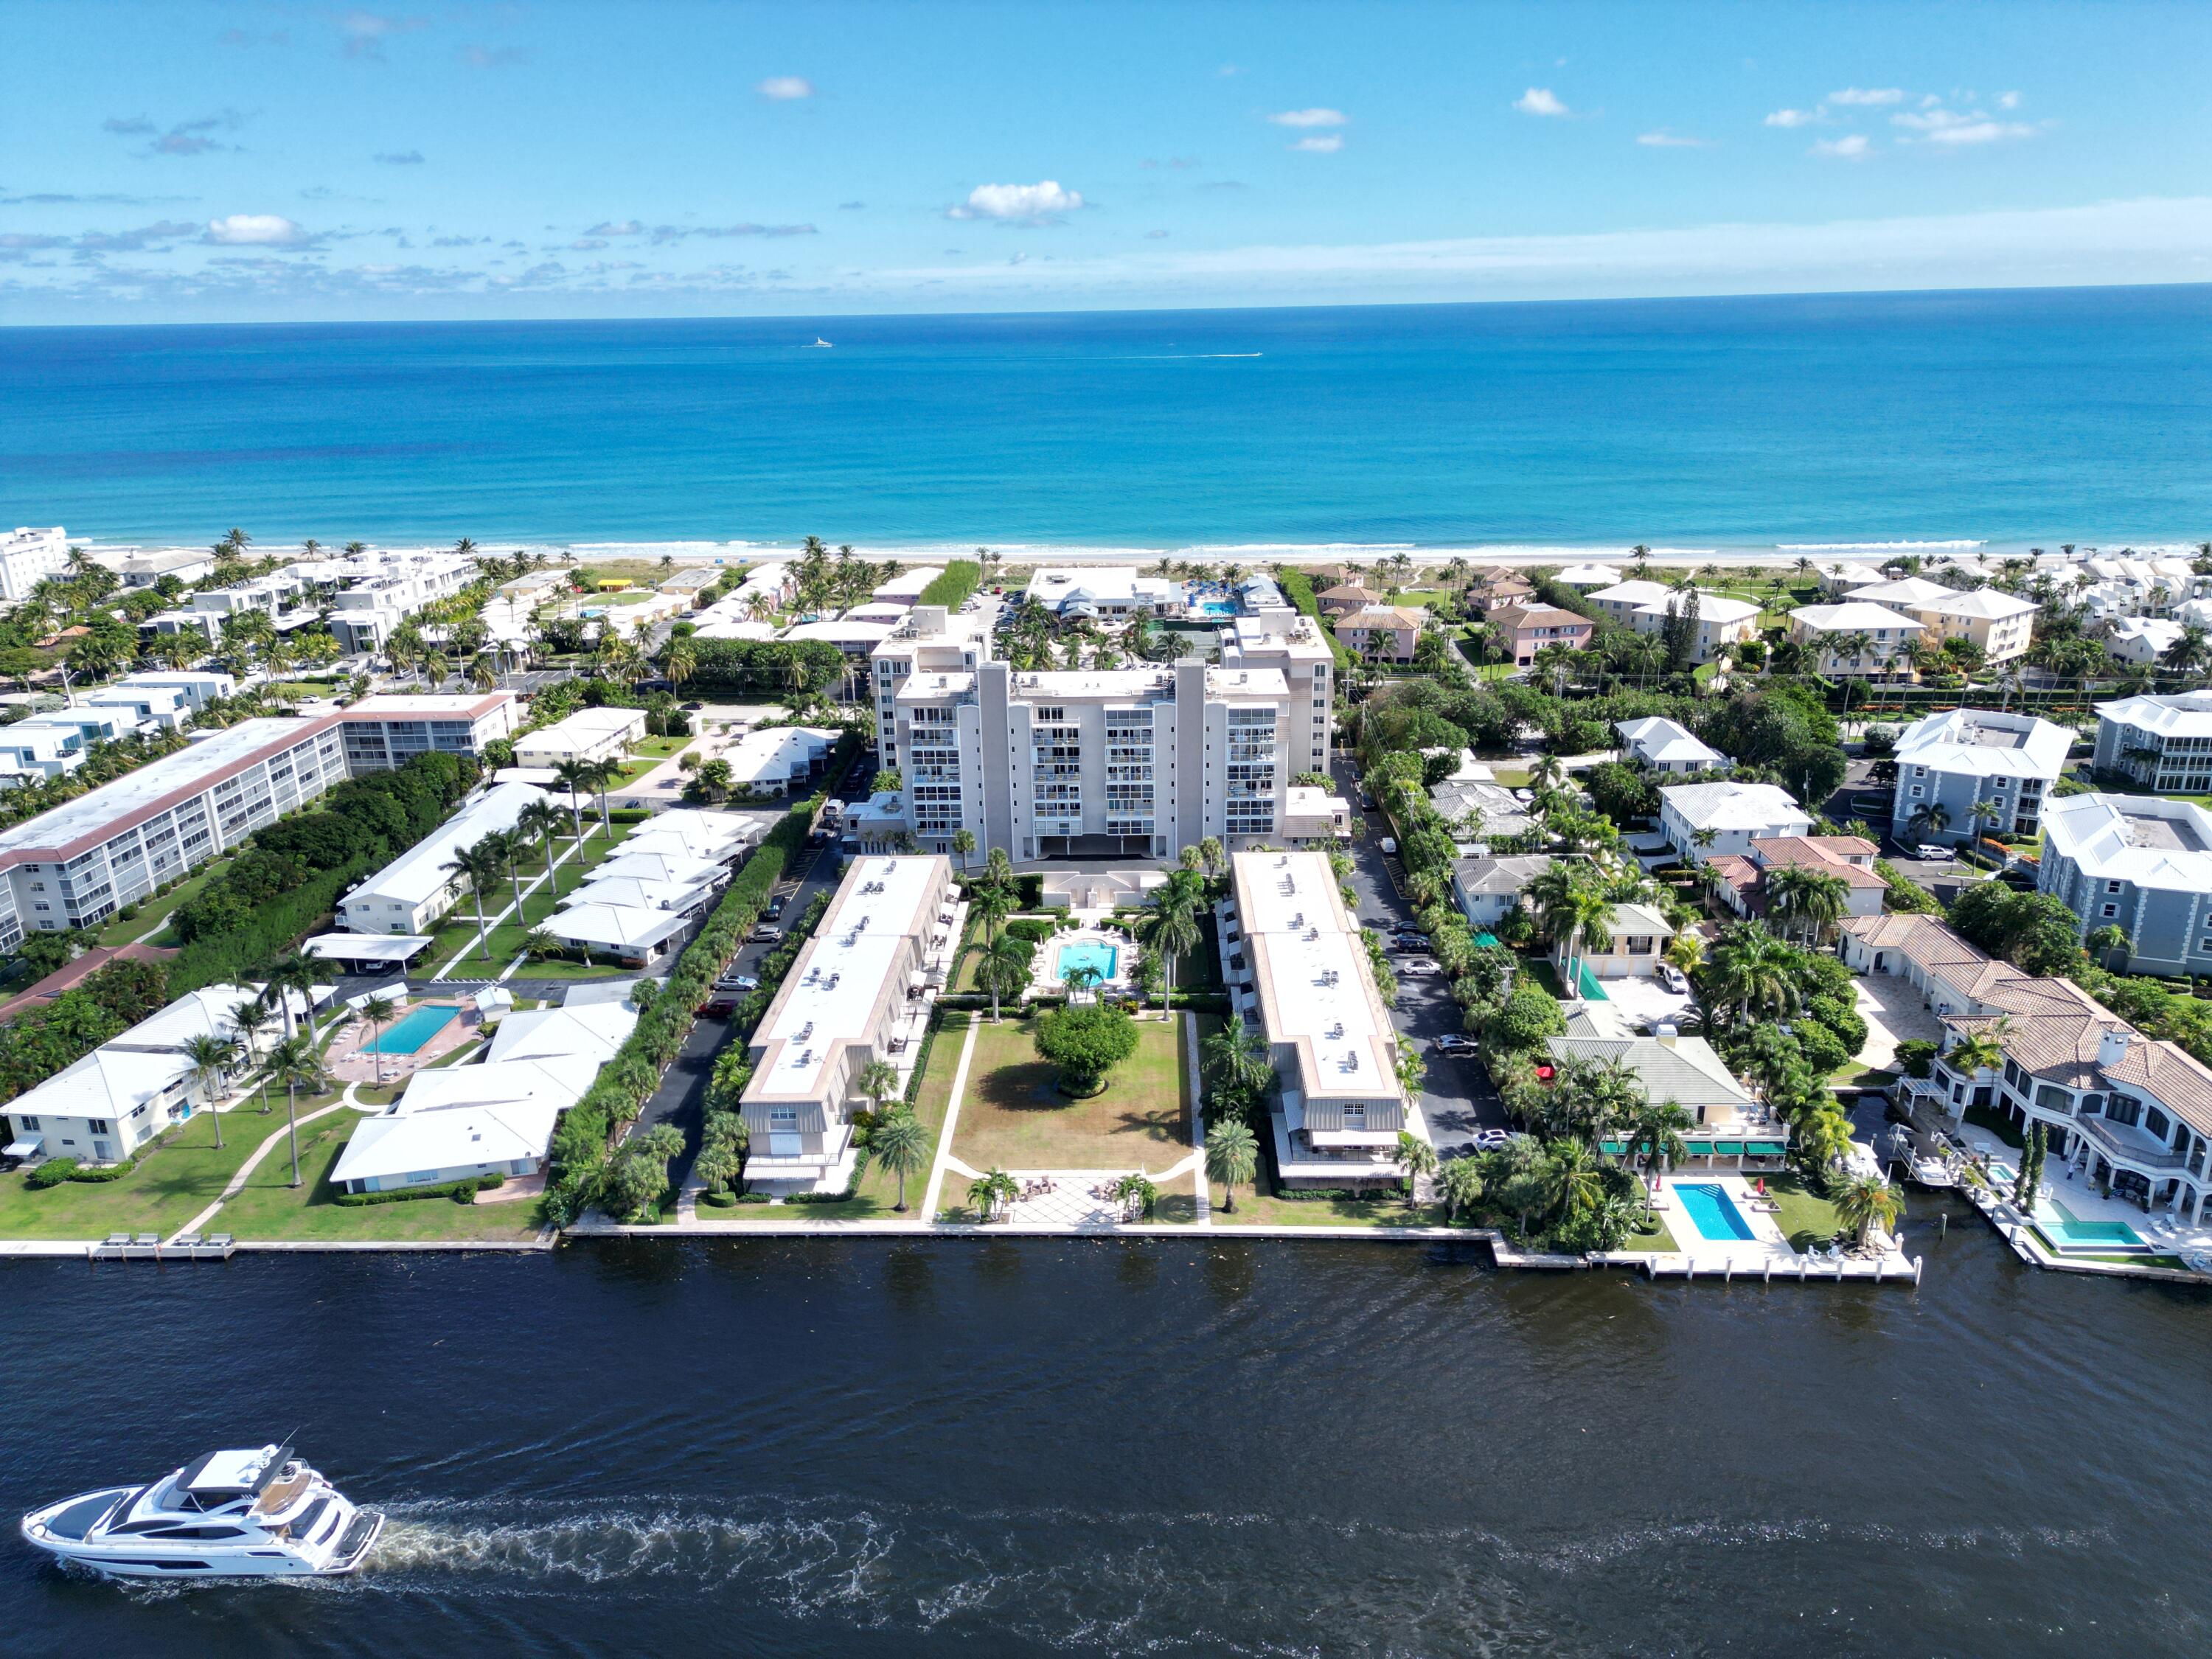
[[[1918,719],[1898,739],[1889,821],[1916,841],[2033,836],[2070,745],[2073,732],[2035,714],[1951,708]]]

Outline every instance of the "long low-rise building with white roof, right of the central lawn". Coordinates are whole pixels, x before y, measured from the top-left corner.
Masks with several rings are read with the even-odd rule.
[[[1272,1128],[1283,1181],[1396,1181],[1398,1133],[1429,1139],[1429,1126],[1398,1086],[1398,1029],[1336,872],[1318,852],[1241,852],[1230,872],[1252,1006],[1281,1084]]]

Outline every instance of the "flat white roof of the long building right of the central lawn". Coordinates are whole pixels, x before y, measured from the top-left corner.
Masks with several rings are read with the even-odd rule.
[[[1398,1031],[1374,991],[1367,947],[1327,856],[1241,852],[1234,872],[1267,1040],[1310,1044],[1310,1095],[1402,1099]]]

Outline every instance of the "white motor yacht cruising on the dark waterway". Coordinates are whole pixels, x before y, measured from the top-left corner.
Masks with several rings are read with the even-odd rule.
[[[135,1579],[336,1577],[385,1517],[356,1509],[292,1447],[210,1451],[148,1486],[108,1486],[22,1517],[42,1551]]]

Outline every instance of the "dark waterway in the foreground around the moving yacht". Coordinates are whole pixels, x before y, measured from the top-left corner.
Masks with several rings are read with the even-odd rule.
[[[1922,1232],[1922,1223],[1916,1223]],[[2212,1303],[929,1241],[0,1270],[0,1509],[301,1425],[332,1586],[0,1546],[9,1655],[2194,1655]]]

